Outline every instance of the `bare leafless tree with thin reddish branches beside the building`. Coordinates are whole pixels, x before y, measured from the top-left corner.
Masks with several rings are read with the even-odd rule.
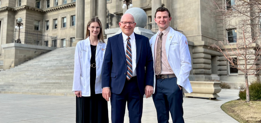
[[[215,48],[228,61],[230,67],[243,72],[246,83],[246,101],[249,102],[248,76],[259,76],[260,71],[260,14],[261,0],[211,0],[216,17],[222,20],[224,29],[234,29],[239,35],[218,41]],[[223,2],[223,3],[222,3]],[[232,31],[231,31],[232,32]]]

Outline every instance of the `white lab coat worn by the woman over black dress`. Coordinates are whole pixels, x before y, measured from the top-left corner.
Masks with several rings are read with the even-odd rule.
[[[74,75],[72,91],[82,91],[82,96],[91,96],[90,89],[90,67],[91,67],[91,46],[89,37],[77,43],[74,56]],[[95,62],[96,62],[96,81],[95,93],[102,93],[101,72],[103,57],[106,50],[106,44],[98,42]]]

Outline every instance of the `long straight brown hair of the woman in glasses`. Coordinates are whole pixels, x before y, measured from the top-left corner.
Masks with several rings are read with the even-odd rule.
[[[88,30],[88,26],[90,26],[90,24],[93,23],[93,22],[99,23],[101,29],[100,29],[100,33],[98,34],[98,40],[101,41],[101,42],[103,42],[103,43],[105,43],[105,42],[104,42],[104,39],[103,39],[103,26],[102,26],[102,23],[101,23],[101,21],[100,21],[99,18],[92,18],[92,19],[88,22],[85,39],[90,36],[90,30]]]

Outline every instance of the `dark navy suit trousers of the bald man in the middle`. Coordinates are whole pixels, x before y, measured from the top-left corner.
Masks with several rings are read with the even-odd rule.
[[[125,107],[129,111],[130,123],[141,123],[143,96],[138,88],[137,77],[126,80],[120,94],[111,93],[111,122],[123,123]]]

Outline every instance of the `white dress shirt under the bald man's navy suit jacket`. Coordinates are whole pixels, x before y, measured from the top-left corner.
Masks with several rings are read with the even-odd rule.
[[[128,41],[128,36],[122,33],[123,37],[123,46],[124,46],[124,52],[126,56],[126,49],[127,49],[127,41]],[[132,76],[135,77],[137,76],[136,73],[136,42],[135,42],[135,35],[134,32],[129,36],[130,37],[130,47],[131,47],[131,56],[132,56]]]

